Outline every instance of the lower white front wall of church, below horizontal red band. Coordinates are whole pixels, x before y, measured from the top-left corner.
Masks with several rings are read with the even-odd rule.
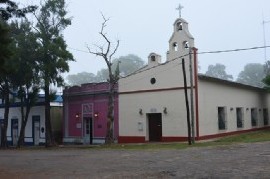
[[[162,136],[187,136],[186,106],[183,90],[123,94],[119,97],[119,135],[145,136],[148,140],[148,113],[162,114]],[[167,108],[167,114],[164,108]],[[143,114],[139,114],[142,109]],[[141,123],[143,130],[139,130]]]

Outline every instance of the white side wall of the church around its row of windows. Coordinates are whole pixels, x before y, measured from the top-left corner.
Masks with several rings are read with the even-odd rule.
[[[269,94],[221,82],[199,80],[200,136],[263,127],[263,108],[269,107]],[[218,107],[225,107],[227,127],[218,129]],[[243,108],[244,127],[237,128],[236,108]],[[258,110],[258,125],[251,126],[251,108]],[[268,109],[269,111],[269,109]]]

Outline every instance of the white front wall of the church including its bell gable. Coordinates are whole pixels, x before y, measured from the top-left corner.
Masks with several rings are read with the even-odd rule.
[[[177,24],[181,22],[183,29],[178,30]],[[188,23],[178,18],[173,24],[166,62],[159,63],[161,57],[150,53],[145,68],[119,80],[119,136],[141,136],[146,141],[149,140],[147,114],[151,113],[162,114],[162,137],[187,136],[182,59],[185,59],[188,87],[190,59],[185,42],[188,42],[189,47],[194,47],[194,38],[188,31]],[[157,60],[153,61],[152,55]],[[193,64],[191,66],[193,68]],[[151,84],[151,78],[155,78],[156,83]],[[190,90],[188,96],[190,97]],[[164,108],[167,109],[167,114],[164,113]],[[140,109],[142,115],[139,114]]]

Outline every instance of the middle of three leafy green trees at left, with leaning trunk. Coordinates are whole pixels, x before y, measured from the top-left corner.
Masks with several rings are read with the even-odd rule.
[[[14,72],[11,75],[13,89],[17,89],[20,99],[21,128],[17,146],[24,144],[25,127],[31,108],[35,105],[39,92],[38,63],[35,34],[31,23],[27,20],[12,22],[11,33],[14,45],[12,65]]]

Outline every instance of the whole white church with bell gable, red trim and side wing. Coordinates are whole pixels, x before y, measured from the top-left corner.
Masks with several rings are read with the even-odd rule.
[[[148,65],[119,80],[118,142],[186,141],[185,89],[196,140],[269,128],[267,91],[198,74],[188,23],[178,18],[173,29],[166,62],[151,53]]]

